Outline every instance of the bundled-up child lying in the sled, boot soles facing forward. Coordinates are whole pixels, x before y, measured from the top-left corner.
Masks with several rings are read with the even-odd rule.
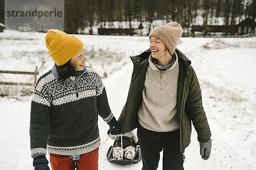
[[[132,130],[131,132],[122,134],[122,147],[121,135],[111,135],[108,130],[108,136],[115,140],[113,144],[113,158],[120,160],[123,155],[126,159],[134,159],[135,147],[138,143],[136,131]]]

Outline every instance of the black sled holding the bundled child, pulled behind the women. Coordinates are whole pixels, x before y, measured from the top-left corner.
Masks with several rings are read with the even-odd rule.
[[[134,159],[131,159],[131,160],[130,159],[126,159],[125,157],[123,157],[123,159],[121,159],[121,160],[117,160],[117,159],[113,158],[113,145],[112,145],[108,149],[107,159],[108,159],[108,161],[113,162],[113,163],[117,163],[117,164],[137,163],[138,161],[141,160],[140,145],[136,146]]]

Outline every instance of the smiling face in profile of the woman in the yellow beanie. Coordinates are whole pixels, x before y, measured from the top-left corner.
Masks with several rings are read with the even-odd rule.
[[[84,56],[84,48],[72,57],[70,63],[76,67],[76,71],[82,71],[84,69],[84,64],[87,61],[87,58]]]

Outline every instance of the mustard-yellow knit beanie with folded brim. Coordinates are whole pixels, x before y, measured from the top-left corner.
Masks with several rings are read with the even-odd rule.
[[[45,44],[56,65],[64,65],[83,47],[83,42],[73,35],[57,29],[50,29],[45,36]]]

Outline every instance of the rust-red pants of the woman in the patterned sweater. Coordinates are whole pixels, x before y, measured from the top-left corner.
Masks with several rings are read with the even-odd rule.
[[[80,155],[76,160],[78,170],[98,170],[99,147],[95,150]],[[67,155],[50,153],[52,170],[75,170],[75,161]]]

